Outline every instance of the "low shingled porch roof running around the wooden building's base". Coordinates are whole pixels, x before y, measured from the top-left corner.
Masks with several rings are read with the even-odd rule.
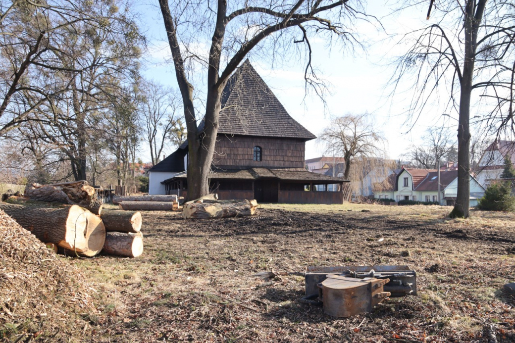
[[[251,168],[245,170],[228,170],[214,169],[209,176],[214,180],[240,179],[240,180],[258,180],[258,179],[277,179],[282,181],[306,181],[306,182],[349,182],[342,178],[331,177],[327,175],[311,173],[302,168],[292,169],[269,169],[269,168]],[[186,173],[179,174],[173,178],[164,180],[163,184],[173,181],[174,179],[185,179]]]

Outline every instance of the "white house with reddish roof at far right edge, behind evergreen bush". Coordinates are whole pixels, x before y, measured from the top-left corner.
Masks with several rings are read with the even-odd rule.
[[[474,170],[477,181],[483,187],[501,178],[506,156],[512,164],[515,162],[515,142],[495,140],[485,149]]]

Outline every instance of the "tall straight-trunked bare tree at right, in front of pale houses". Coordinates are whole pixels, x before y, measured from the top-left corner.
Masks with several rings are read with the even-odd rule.
[[[407,6],[417,4],[422,3],[413,1]],[[486,0],[443,0],[430,4],[428,17],[434,5],[437,20],[408,35],[409,39],[414,37],[413,44],[401,58],[394,81],[399,85],[403,76],[415,74],[410,108],[415,117],[442,94],[446,112],[459,113],[458,194],[450,215],[468,217],[472,95],[477,106],[489,108],[485,120],[491,129],[514,125],[515,15],[509,1],[490,1],[487,5]]]

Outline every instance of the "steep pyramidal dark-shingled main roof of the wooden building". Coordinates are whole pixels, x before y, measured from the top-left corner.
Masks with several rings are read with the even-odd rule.
[[[316,136],[290,117],[265,81],[246,60],[222,93],[218,133],[296,138]]]

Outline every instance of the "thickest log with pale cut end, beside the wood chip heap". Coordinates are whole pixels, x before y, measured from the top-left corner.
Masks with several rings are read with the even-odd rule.
[[[54,243],[83,256],[94,256],[104,246],[102,220],[78,205],[48,209],[0,203],[0,209],[43,243]]]

